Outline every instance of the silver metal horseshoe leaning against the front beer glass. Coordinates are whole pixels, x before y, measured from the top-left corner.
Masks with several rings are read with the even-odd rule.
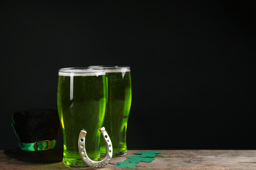
[[[106,144],[106,156],[101,161],[93,161],[87,156],[87,153],[85,150],[86,133],[87,133],[86,131],[81,130],[79,134],[79,139],[78,139],[79,154],[83,162],[89,167],[92,167],[94,169],[105,167],[106,165],[108,165],[108,162],[110,162],[113,154],[112,143],[111,143],[110,137],[108,136],[108,133],[106,132],[105,127],[100,128],[100,133]]]

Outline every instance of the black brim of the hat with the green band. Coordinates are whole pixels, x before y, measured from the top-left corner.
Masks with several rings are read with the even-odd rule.
[[[9,148],[4,150],[4,153],[11,158],[22,161],[59,162],[63,158],[63,149],[60,148],[42,151],[26,151],[20,148]]]

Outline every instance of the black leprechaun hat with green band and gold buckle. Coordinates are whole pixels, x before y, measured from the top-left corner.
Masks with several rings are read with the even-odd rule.
[[[54,148],[60,131],[57,110],[22,110],[15,112],[12,120],[19,147],[5,150],[7,156],[24,161],[62,161],[63,149]]]

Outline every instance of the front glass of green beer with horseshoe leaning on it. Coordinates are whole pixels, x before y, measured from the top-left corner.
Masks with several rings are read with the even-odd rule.
[[[81,129],[87,131],[85,148],[91,160],[100,160],[100,127],[106,109],[106,78],[102,70],[70,67],[58,71],[58,114],[64,138],[63,164],[86,167],[78,150]]]

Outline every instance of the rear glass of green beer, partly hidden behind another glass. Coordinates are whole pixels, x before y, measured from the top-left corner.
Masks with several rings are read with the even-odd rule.
[[[106,72],[107,105],[103,126],[112,141],[113,156],[127,154],[126,130],[131,107],[131,69],[127,66],[93,65],[94,70]],[[104,140],[100,139],[100,152],[106,153]]]

